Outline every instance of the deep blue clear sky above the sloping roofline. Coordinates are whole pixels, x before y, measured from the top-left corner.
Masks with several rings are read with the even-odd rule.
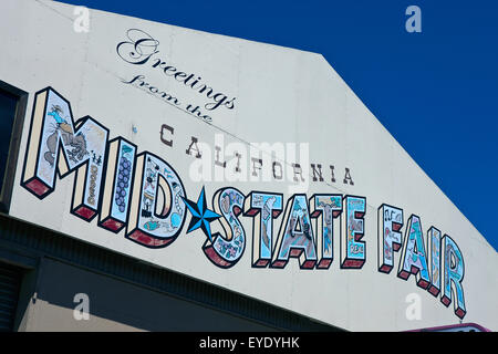
[[[62,2],[323,54],[498,249],[497,1]]]

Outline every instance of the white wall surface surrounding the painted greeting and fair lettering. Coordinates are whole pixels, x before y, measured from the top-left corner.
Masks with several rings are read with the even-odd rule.
[[[404,211],[403,236],[407,219],[414,214],[422,220],[424,238],[434,226],[455,240],[465,260],[467,314],[463,321],[497,329],[496,251],[323,56],[102,11],[91,10],[90,14],[90,32],[77,33],[73,30],[71,6],[13,0],[0,4],[4,49],[0,80],[30,93],[12,216],[347,330],[402,331],[459,323],[453,311],[455,299],[446,308],[439,298],[418,288],[414,275],[407,281],[396,277],[401,251],[395,252],[395,267],[390,274],[377,271],[377,208],[388,204]],[[139,29],[159,42],[159,53],[154,58],[195,73],[215,90],[237,97],[235,107],[216,108],[209,123],[187,114],[183,108],[188,103],[204,106],[212,101],[151,63],[131,64],[120,58],[116,46],[127,41],[129,29]],[[136,75],[174,94],[181,102],[180,107],[124,83]],[[206,237],[200,230],[186,235],[190,214],[173,243],[152,249],[126,239],[123,230],[115,235],[100,228],[96,219],[87,222],[70,214],[74,174],[58,180],[55,190],[42,200],[35,198],[21,186],[21,178],[34,94],[46,86],[71,103],[74,118],[90,115],[110,129],[110,138],[122,136],[136,144],[138,153],[148,150],[164,158],[180,176],[188,199],[196,201],[205,186],[210,208],[215,191],[221,187],[235,187],[246,196],[252,190],[281,192],[283,207],[295,191],[305,192],[308,198],[313,194],[365,197],[363,268],[340,268],[339,219],[334,221],[334,260],[328,270],[302,270],[292,258],[284,269],[252,268],[252,220],[242,216],[239,219],[247,237],[245,253],[232,268],[222,269],[204,254]],[[174,127],[173,135],[166,132],[166,138],[173,139],[172,147],[160,142],[163,124]],[[301,190],[274,179],[196,181],[191,166],[199,160],[186,154],[193,136],[205,144],[199,144],[204,162],[208,162],[209,147],[215,158],[214,146],[216,142],[219,145],[216,139],[220,137],[225,146],[239,143],[246,157],[255,144],[304,143],[309,160],[301,160],[303,167],[321,164],[325,180],[312,181],[308,170],[308,183]],[[288,166],[293,162],[297,160],[292,156],[286,156]],[[227,168],[234,168],[234,159],[228,162]],[[335,181],[331,181],[329,165],[334,166]],[[219,168],[214,160],[206,166],[212,171]],[[345,168],[354,185],[343,183]],[[274,235],[281,220],[282,215],[273,222]],[[222,230],[218,222],[211,227],[214,231]],[[421,320],[406,317],[405,299],[411,293],[418,294],[422,301]]]

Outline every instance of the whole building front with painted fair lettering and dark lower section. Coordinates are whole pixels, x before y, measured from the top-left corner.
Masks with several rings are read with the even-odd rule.
[[[496,330],[496,251],[323,56],[76,10],[0,4],[0,329]]]

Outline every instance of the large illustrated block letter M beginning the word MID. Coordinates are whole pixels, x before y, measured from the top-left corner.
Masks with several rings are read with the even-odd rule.
[[[90,116],[73,121],[71,105],[52,87],[37,92],[21,186],[39,199],[55,189],[55,171],[76,170],[71,212],[91,221],[97,214],[108,129]]]

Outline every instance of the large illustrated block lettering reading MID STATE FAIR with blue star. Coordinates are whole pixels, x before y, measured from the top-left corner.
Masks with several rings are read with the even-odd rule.
[[[230,186],[212,196],[205,186],[187,191],[163,157],[139,152],[121,136],[110,139],[108,133],[90,116],[75,121],[69,101],[52,87],[37,92],[21,186],[42,200],[55,190],[58,178],[74,173],[70,212],[87,222],[98,216],[97,227],[122,233],[135,247],[163,249],[180,235],[203,233],[201,253],[222,269],[235,267],[250,249],[255,271],[295,264],[324,271],[334,262],[334,244],[339,244],[341,269],[364,267],[372,247],[367,241],[372,236],[365,238],[366,197],[294,194],[284,198],[271,190]],[[197,140],[191,142],[190,147]],[[252,222],[252,230],[245,229],[242,218]],[[377,271],[391,273],[397,260],[398,278],[408,281],[414,275],[418,288],[439,296],[445,306],[453,302],[455,314],[463,319],[465,263],[457,243],[434,226],[424,230],[416,215],[405,220],[395,206],[383,204],[376,219]]]

